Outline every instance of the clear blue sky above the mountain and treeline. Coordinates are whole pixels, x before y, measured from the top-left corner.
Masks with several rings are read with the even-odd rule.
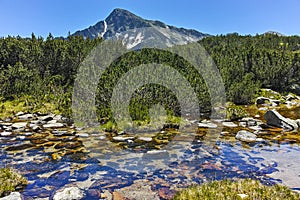
[[[0,37],[66,36],[114,8],[209,34],[300,35],[300,0],[0,0]]]

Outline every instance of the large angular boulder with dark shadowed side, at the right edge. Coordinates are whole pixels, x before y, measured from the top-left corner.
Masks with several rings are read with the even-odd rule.
[[[283,128],[287,131],[298,130],[299,126],[296,120],[285,118],[280,115],[276,110],[269,110],[264,116],[266,122],[270,126]]]

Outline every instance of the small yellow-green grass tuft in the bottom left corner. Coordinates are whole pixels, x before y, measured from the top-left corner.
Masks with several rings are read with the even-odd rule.
[[[14,169],[0,168],[0,197],[27,185],[27,180]]]

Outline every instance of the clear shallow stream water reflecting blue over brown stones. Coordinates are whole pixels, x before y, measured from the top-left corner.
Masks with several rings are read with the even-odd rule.
[[[299,110],[285,114],[298,118]],[[75,137],[63,130],[63,134],[20,132],[0,138],[0,167],[16,168],[29,180],[22,191],[25,198],[51,198],[59,188],[76,185],[85,190],[87,199],[99,199],[91,191],[113,191],[135,180],[148,180],[154,191],[226,178],[253,178],[300,190],[299,133],[269,131],[264,142],[246,144],[235,140],[238,129],[223,129],[225,135],[199,129],[192,141],[181,140],[191,133],[176,133],[173,149],[164,151],[163,142],[156,146],[113,142],[104,132]],[[174,130],[165,134],[170,131]],[[166,138],[171,140],[174,134]]]

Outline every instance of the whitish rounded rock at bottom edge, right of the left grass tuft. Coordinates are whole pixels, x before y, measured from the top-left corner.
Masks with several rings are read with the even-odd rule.
[[[54,194],[53,200],[79,200],[84,197],[84,193],[77,187],[64,188]]]

